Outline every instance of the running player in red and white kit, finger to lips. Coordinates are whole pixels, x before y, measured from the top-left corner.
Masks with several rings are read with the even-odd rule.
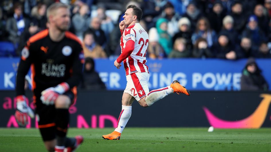
[[[114,62],[114,66],[120,69],[120,63],[123,62],[127,84],[122,95],[122,111],[118,118],[118,126],[112,133],[103,135],[104,139],[120,139],[120,135],[132,114],[134,99],[142,107],[149,107],[159,99],[174,92],[190,95],[190,92],[180,85],[178,80],[173,81],[170,86],[149,91],[149,68],[146,65],[145,57],[149,37],[148,33],[139,24],[141,17],[141,8],[129,5],[123,16],[124,20],[119,23],[122,53]]]

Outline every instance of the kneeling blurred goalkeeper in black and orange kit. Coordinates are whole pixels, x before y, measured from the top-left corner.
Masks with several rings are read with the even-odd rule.
[[[80,40],[68,32],[68,5],[54,3],[47,9],[49,28],[30,37],[22,50],[16,77],[19,125],[34,117],[26,105],[24,78],[31,67],[32,91],[36,105],[38,128],[48,151],[74,151],[83,142],[82,136],[67,138],[69,107],[76,97],[76,85],[82,77],[83,50]]]

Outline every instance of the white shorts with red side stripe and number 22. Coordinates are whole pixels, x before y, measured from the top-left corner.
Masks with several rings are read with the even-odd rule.
[[[126,75],[127,84],[124,93],[129,93],[137,101],[143,97],[146,97],[146,95],[149,93],[149,78],[150,74],[147,72],[136,72]]]

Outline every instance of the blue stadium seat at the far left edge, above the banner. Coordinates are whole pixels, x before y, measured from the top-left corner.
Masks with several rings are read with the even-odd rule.
[[[10,56],[16,56],[13,43],[7,41],[0,41],[0,57]]]

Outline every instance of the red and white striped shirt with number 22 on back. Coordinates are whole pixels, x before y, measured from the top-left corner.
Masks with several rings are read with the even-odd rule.
[[[139,23],[135,23],[122,32],[120,38],[121,55],[117,62],[123,61],[126,75],[135,72],[148,72],[146,52],[149,43],[148,33]]]

